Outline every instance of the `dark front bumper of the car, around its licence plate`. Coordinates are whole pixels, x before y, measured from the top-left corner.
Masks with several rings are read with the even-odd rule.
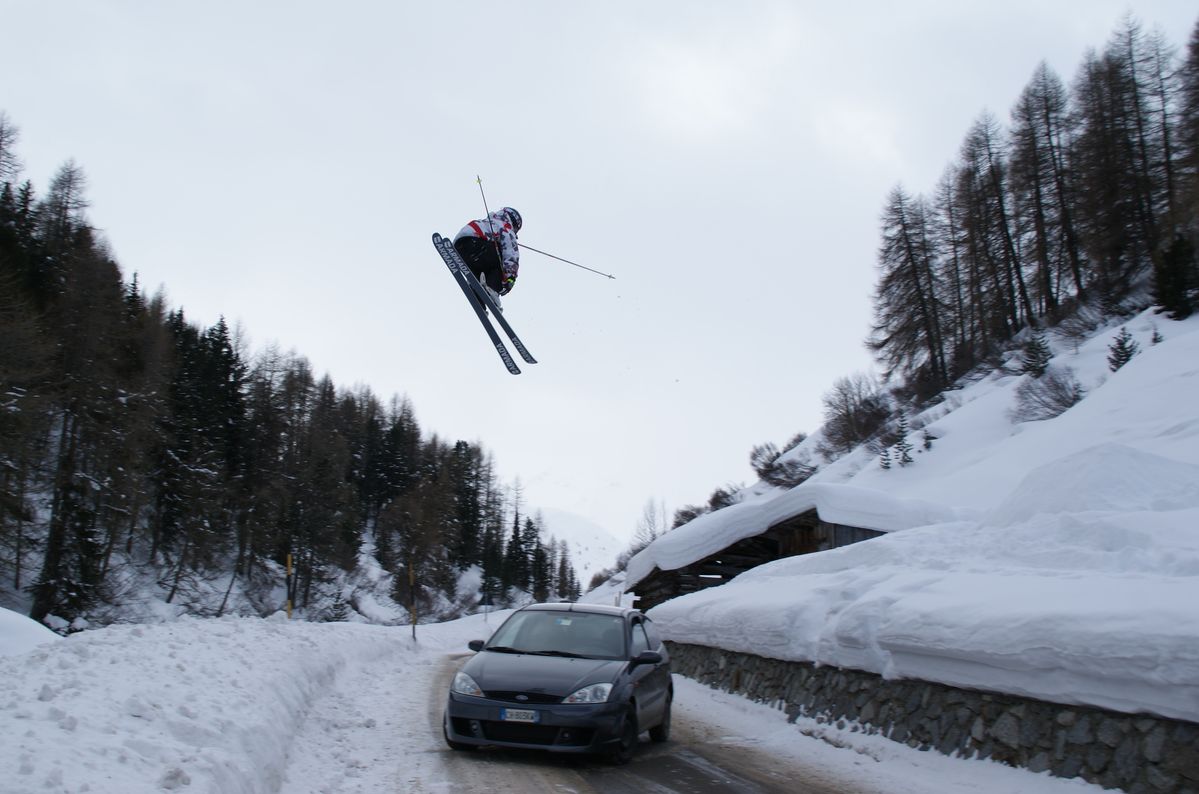
[[[450,741],[560,753],[602,753],[620,741],[621,703],[535,704],[450,693],[445,728]],[[537,722],[501,718],[502,709],[537,712]]]

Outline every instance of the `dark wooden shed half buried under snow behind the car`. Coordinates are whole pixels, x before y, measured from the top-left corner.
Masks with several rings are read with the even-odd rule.
[[[639,596],[638,608],[650,609],[663,601],[724,584],[763,563],[849,546],[884,534],[821,521],[813,509],[689,565],[670,571],[655,567],[631,589]]]

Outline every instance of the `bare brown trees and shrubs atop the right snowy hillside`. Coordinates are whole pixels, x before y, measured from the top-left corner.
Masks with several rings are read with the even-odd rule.
[[[891,191],[866,341],[882,380],[849,374],[824,395],[818,455],[787,455],[801,432],[754,446],[751,467],[769,486],[794,487],[861,444],[886,467],[920,429],[908,415],[1013,350],[1035,375],[1020,419],[1061,413],[1083,395],[1070,372],[1043,368],[1047,335],[1077,342],[1151,305],[1189,317],[1197,249],[1199,23],[1180,53],[1128,16],[1068,85],[1042,62],[1006,126],[983,113],[932,196]],[[1131,355],[1113,345],[1116,361]],[[902,463],[906,452],[894,452]],[[680,507],[673,527],[734,504],[742,488]],[[651,540],[641,533],[638,546]]]

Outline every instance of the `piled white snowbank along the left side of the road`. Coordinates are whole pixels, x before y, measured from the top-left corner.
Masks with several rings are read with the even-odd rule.
[[[0,657],[0,792],[289,790],[293,741],[343,669],[391,657],[420,679],[489,634],[483,618],[417,632],[181,618]],[[409,699],[423,720],[428,693]]]

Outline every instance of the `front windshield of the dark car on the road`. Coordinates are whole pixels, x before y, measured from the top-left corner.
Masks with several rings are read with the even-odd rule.
[[[625,619],[590,612],[529,609],[505,621],[487,643],[510,654],[626,658]]]

